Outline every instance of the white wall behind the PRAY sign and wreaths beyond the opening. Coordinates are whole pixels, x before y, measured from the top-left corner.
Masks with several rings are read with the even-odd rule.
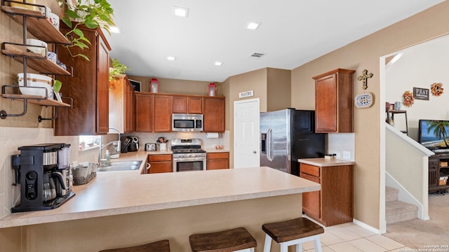
[[[449,120],[449,36],[436,38],[403,50],[403,55],[391,66],[387,66],[386,101],[402,102],[405,91],[413,87],[429,89],[429,101],[415,99],[412,106],[402,105],[407,111],[409,137],[417,140],[420,119]],[[431,94],[432,83],[443,83],[440,97]],[[395,116],[395,127],[404,129],[401,115]]]

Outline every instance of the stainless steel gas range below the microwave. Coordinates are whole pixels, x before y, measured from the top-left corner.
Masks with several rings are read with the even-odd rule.
[[[206,151],[200,139],[172,139],[173,172],[206,170]]]

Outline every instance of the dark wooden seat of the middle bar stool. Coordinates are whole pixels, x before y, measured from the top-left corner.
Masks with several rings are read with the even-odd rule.
[[[189,236],[193,252],[254,252],[257,242],[246,228],[234,228],[220,232]]]

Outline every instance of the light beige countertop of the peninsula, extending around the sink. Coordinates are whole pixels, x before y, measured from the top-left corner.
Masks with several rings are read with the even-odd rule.
[[[147,152],[123,154],[120,160],[145,159]],[[76,195],[57,209],[13,213],[0,228],[192,207],[320,190],[307,181],[269,167],[140,174],[98,172],[91,182],[74,186]]]

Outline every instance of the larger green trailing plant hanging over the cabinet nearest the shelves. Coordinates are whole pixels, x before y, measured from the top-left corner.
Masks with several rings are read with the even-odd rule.
[[[89,58],[82,53],[74,55],[70,48],[76,46],[83,50],[89,48],[91,41],[88,40],[79,29],[80,25],[85,25],[89,29],[96,29],[98,27],[105,29],[110,34],[110,27],[114,26],[112,17],[114,10],[107,0],[56,0],[62,8],[67,6],[62,22],[69,27],[69,31],[65,34],[67,38],[72,41],[72,44],[65,45],[72,57],[83,57],[86,60]]]

